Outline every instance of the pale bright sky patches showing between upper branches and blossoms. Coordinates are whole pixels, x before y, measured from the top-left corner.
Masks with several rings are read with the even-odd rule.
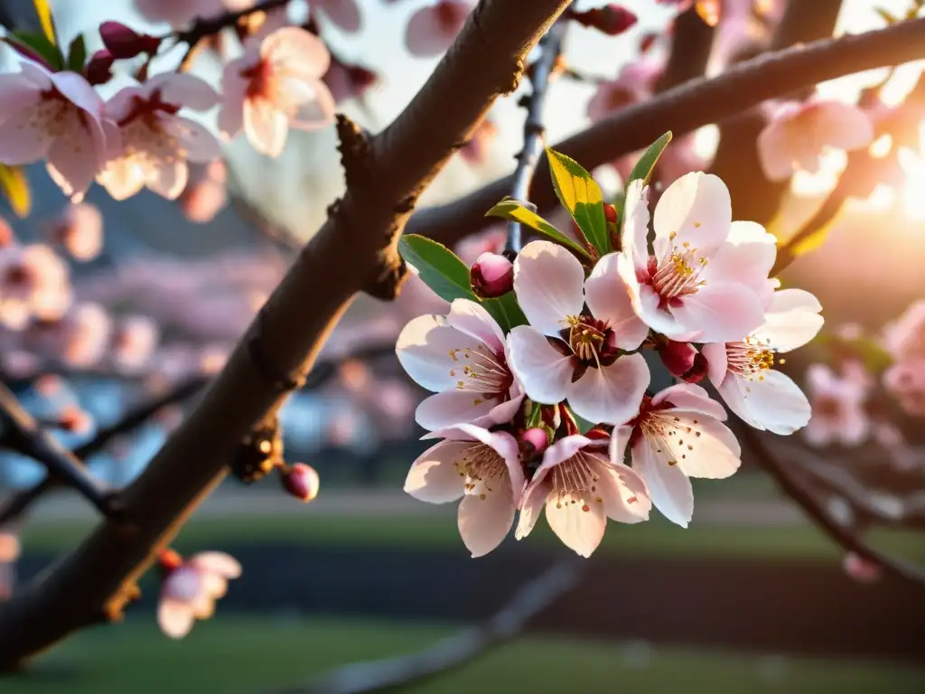
[[[408,16],[415,8],[432,0],[403,0],[391,5],[384,5],[382,0],[358,2],[364,10],[364,28],[357,34],[346,35],[334,27],[327,27],[326,31],[330,31],[326,36],[334,51],[346,61],[375,67],[383,72],[382,84],[368,94],[365,107],[358,104],[342,106],[348,116],[376,131],[401,112],[438,62],[437,59],[413,58],[403,49],[403,29]],[[845,0],[837,32],[867,31],[882,26],[876,7],[899,13],[907,3],[908,0]],[[600,4],[601,0],[576,2],[579,9]],[[86,30],[105,19],[119,19],[138,29],[166,29],[163,26],[146,26],[131,5],[131,0],[52,0],[64,36]],[[656,5],[654,0],[624,0],[623,5],[634,10],[639,17],[636,27],[623,36],[605,37],[598,31],[573,27],[565,43],[566,56],[573,68],[589,75],[615,77],[634,58],[639,37],[649,31],[660,31],[671,16],[668,9]],[[93,32],[87,38],[92,47],[98,46],[98,37]],[[195,69],[204,78],[215,81],[216,65],[201,61]],[[908,70],[908,76],[914,77],[918,69]],[[836,81],[823,85],[822,92],[836,98],[851,98],[860,86],[876,81],[881,74],[882,71],[875,71]],[[586,128],[589,122],[585,114],[586,102],[593,93],[594,87],[588,84],[560,80],[553,85],[546,114],[550,143]],[[902,93],[903,81],[898,80],[894,98]],[[440,202],[458,196],[512,169],[512,157],[520,147],[524,118],[523,110],[516,106],[517,98],[499,100],[492,112],[492,118],[499,127],[499,138],[488,160],[478,167],[471,167],[457,157],[427,192],[425,202]],[[210,118],[206,118],[206,122]],[[701,141],[709,146],[709,130],[703,133]],[[335,144],[333,129],[327,129],[292,137],[292,143],[278,160],[256,155],[243,142],[234,143],[228,149],[228,155],[236,178],[252,202],[275,217],[277,222],[307,235],[323,220],[327,204],[342,188]],[[831,182],[832,172],[838,166],[836,157],[828,179],[800,180],[800,190],[807,194],[821,190]]]

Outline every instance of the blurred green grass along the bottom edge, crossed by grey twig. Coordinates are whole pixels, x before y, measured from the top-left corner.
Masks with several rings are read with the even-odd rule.
[[[451,627],[359,620],[224,617],[182,641],[150,617],[71,638],[31,672],[0,684],[4,694],[259,692],[309,681],[343,663],[417,651]],[[408,689],[470,692],[787,692],[897,694],[922,691],[925,671],[893,663],[837,662],[647,649],[563,638],[524,638]]]

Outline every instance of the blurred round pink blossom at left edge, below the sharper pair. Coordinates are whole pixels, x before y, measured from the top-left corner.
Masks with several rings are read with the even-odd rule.
[[[49,246],[0,248],[0,323],[21,329],[33,316],[57,320],[70,302],[68,266]]]

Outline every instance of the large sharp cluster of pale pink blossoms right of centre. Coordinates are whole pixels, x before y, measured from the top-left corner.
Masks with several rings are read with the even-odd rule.
[[[566,175],[579,170],[596,188],[569,167]],[[474,556],[497,547],[518,513],[515,537],[524,538],[544,508],[582,556],[608,518],[644,521],[652,505],[686,527],[689,478],[729,477],[740,465],[722,404],[697,385],[703,378],[754,428],[791,434],[808,423],[806,396],[774,366],[820,330],[819,302],[769,278],[775,240],[733,221],[719,178],[695,172],[672,183],[651,217],[651,242],[648,195],[634,180],[621,233],[603,235],[594,231],[594,219],[607,219],[599,200],[561,195],[584,238],[528,243],[507,294],[484,293],[506,291],[506,266],[480,257],[471,275],[482,292],[401,332],[401,365],[434,392],[417,422],[430,430],[425,439],[439,439],[405,490],[425,502],[462,499],[460,533]],[[502,328],[491,302],[503,301],[503,316],[519,308],[524,319]],[[678,381],[652,392],[659,357]]]

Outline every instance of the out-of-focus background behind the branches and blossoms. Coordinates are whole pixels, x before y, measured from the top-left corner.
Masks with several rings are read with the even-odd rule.
[[[357,3],[359,31],[343,31],[322,15],[323,36],[344,74],[356,78],[365,70],[375,77],[364,78],[359,95],[347,90],[339,97],[339,110],[379,130],[407,104],[437,58],[410,56],[404,45],[409,16],[427,3]],[[14,17],[29,9],[28,3],[3,5]],[[93,28],[104,19],[164,29],[145,24],[128,0],[52,5],[62,35],[87,31],[91,50],[99,45]],[[300,5],[293,3],[292,11],[303,12]],[[639,61],[638,47],[648,35],[660,39],[646,59],[664,61],[672,4],[622,5],[639,21],[620,37],[570,28],[565,55],[578,77],[552,85],[549,143],[586,128],[596,80],[613,80]],[[880,27],[878,10],[901,14],[909,3],[841,5],[836,34]],[[749,25],[749,41],[766,40],[772,8],[767,14],[765,24]],[[722,27],[714,49],[725,51],[728,62],[741,48],[735,41],[745,39],[741,29],[734,34]],[[215,81],[217,68],[206,55],[195,71]],[[709,72],[723,68],[721,60]],[[884,99],[902,102],[921,68],[899,68]],[[854,100],[885,76],[883,70],[865,73],[821,85],[820,92]],[[516,102],[516,96],[504,99],[492,110],[484,140],[455,157],[428,190],[427,204],[450,201],[512,170],[524,119]],[[715,127],[696,133],[694,149],[704,162],[717,139]],[[784,276],[820,297],[829,325],[858,324],[876,333],[921,298],[923,145],[925,138],[903,157],[900,180],[848,204],[820,248]],[[198,171],[178,203],[149,192],[117,203],[94,188],[85,205],[99,212],[89,223],[102,225],[102,248],[86,261],[80,254],[62,257],[68,258],[74,304],[97,308],[84,309],[68,329],[39,326],[24,335],[0,328],[0,375],[40,420],[68,420],[57,434],[68,447],[164,399],[140,426],[107,435],[86,459],[93,475],[113,486],[137,476],[182,420],[289,266],[292,240],[310,237],[343,187],[333,129],[292,133],[277,160],[246,143],[230,145],[226,155],[225,166]],[[785,235],[810,217],[844,167],[844,155],[832,155],[819,174],[796,176],[775,233]],[[605,189],[617,190],[615,167],[595,173]],[[93,216],[75,212],[43,167],[28,175],[31,216],[17,219],[8,206],[0,210],[20,242],[60,241],[62,229],[77,224],[75,216]],[[488,229],[463,240],[457,252],[471,263],[501,244],[503,229]],[[310,387],[284,407],[286,459],[318,472],[321,491],[314,502],[286,496],[275,476],[253,485],[228,478],[183,527],[174,543],[182,554],[227,551],[243,565],[214,618],[183,640],[164,637],[154,621],[157,578],[146,576],[142,600],[130,607],[125,624],[81,632],[29,673],[4,680],[0,691],[238,692],[306,684],[340,665],[420,651],[480,624],[567,560],[570,552],[544,521],[527,541],[508,539],[473,560],[452,504],[415,502],[401,491],[408,466],[425,449],[413,419],[425,391],[401,371],[394,341],[410,318],[445,305],[414,278],[394,304],[360,297],[328,343]],[[305,310],[311,311],[309,302]],[[925,475],[925,465],[917,465],[915,474]],[[39,465],[0,452],[7,499],[34,489],[43,477]],[[921,589],[846,572],[843,552],[753,461],[746,459],[730,480],[698,482],[691,527],[661,517],[635,527],[611,524],[593,559],[574,573],[572,589],[530,619],[523,634],[407,690],[925,691]],[[41,495],[28,514],[3,528],[0,555],[6,551],[13,560],[0,569],[5,589],[36,576],[95,523],[93,509],[76,495]],[[925,562],[921,536],[887,529],[871,537]],[[10,543],[21,546],[18,558]]]

